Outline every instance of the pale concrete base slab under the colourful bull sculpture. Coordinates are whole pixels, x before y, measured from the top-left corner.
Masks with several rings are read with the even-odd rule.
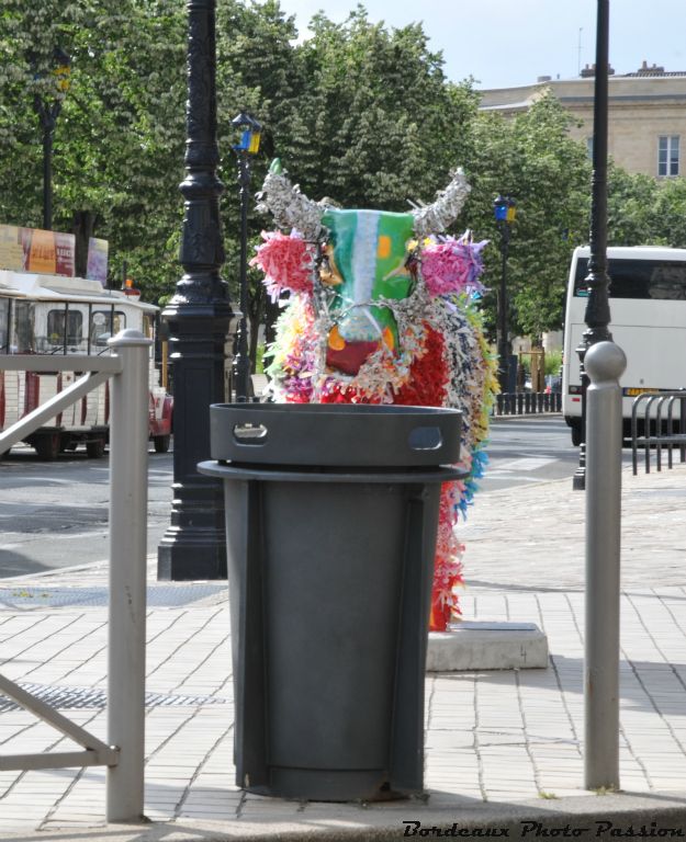
[[[535,623],[454,623],[430,632],[427,672],[548,667],[548,638]]]

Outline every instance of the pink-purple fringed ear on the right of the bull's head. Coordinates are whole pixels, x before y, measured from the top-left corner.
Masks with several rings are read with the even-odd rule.
[[[482,293],[479,276],[484,269],[481,252],[486,242],[445,237],[426,244],[421,249],[421,275],[429,294]]]

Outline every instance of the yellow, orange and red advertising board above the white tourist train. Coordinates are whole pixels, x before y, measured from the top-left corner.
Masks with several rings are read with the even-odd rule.
[[[74,277],[72,234],[0,225],[0,269]]]

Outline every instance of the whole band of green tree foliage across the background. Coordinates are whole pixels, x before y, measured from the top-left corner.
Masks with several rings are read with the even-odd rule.
[[[31,8],[29,8],[31,7]],[[443,72],[420,24],[391,29],[358,5],[342,23],[315,15],[300,42],[278,0],[217,4],[217,106],[224,276],[237,300],[239,207],[235,114],[265,126],[257,190],[272,157],[319,200],[402,210],[430,202],[461,164],[472,192],[454,231],[470,227],[496,287],[498,193],[517,202],[508,259],[510,325],[539,335],[561,326],[571,251],[587,241],[591,170],[570,117],[543,98],[514,120],[479,111],[471,80]],[[71,56],[66,95],[53,50]],[[110,241],[151,300],[173,292],[185,141],[187,10],[183,0],[4,0],[0,11],[0,221],[40,226],[42,149],[34,98],[63,98],[55,130],[54,225]],[[610,168],[612,243],[686,244],[686,182]],[[251,244],[270,220],[251,212]],[[251,276],[251,316],[266,306]],[[492,296],[484,307],[491,317]],[[493,322],[493,318],[491,318]]]

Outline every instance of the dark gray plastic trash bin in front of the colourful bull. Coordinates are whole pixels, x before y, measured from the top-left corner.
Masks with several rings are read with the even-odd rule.
[[[211,408],[224,480],[236,783],[313,800],[421,792],[441,482],[460,413]]]

